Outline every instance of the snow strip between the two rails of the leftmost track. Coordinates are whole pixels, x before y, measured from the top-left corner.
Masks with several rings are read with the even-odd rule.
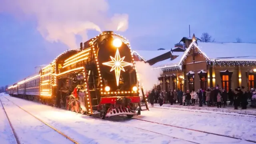
[[[0,100],[22,144],[72,144],[70,140],[15,106],[3,96],[0,96]],[[1,144],[8,144],[8,142]]]

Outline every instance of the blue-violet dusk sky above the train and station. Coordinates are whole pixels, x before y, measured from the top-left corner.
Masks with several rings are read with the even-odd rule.
[[[18,3],[18,1],[20,0],[12,1],[14,8],[20,6],[15,5],[15,2]],[[28,2],[29,0],[24,1]],[[42,0],[36,2],[39,1]],[[45,5],[48,4],[46,1],[48,0],[43,1]],[[49,40],[49,36],[46,36],[47,34],[45,35],[45,31],[42,30],[45,28],[44,24],[49,24],[44,20],[49,19],[50,23],[55,25],[48,29],[48,33],[55,31],[56,28],[62,28],[65,23],[73,24],[79,18],[97,23],[101,30],[112,30],[107,28],[117,27],[114,22],[118,18],[113,18],[115,14],[125,14],[119,17],[127,18],[128,24],[125,23],[126,28],[118,33],[130,41],[134,50],[173,48],[174,44],[180,42],[182,37],[189,36],[189,25],[191,36],[194,33],[196,37],[200,38],[203,32],[208,32],[216,42],[236,42],[236,38],[239,37],[242,42],[256,43],[256,0],[100,1],[105,2],[96,0],[94,5],[88,4],[88,7],[79,9],[81,15],[73,12],[72,8],[70,8],[70,12],[68,10],[62,12],[57,8],[56,11],[59,10],[61,13],[55,13],[55,17],[47,19],[43,15],[44,18],[38,19],[35,15],[28,16],[31,13],[28,8],[20,8],[21,11],[14,12],[12,5],[5,3],[6,0],[0,0],[0,86],[14,84],[34,74],[35,66],[49,64],[61,52],[73,49],[66,43],[69,40],[67,38],[56,40],[56,35],[51,35]],[[35,3],[35,1],[33,2]],[[100,6],[98,6],[99,3]],[[44,4],[38,5],[44,6]],[[58,3],[58,5],[60,8],[62,7],[62,3]],[[8,7],[10,8],[8,9]],[[92,12],[93,8],[98,8],[101,12],[96,12],[96,15]],[[25,12],[23,13],[22,10]],[[45,9],[42,8],[40,12],[44,13],[44,11]],[[76,14],[76,16],[72,14]],[[48,15],[48,17],[51,15],[54,14]],[[75,21],[75,17],[78,20]],[[56,19],[60,19],[61,22],[57,22]],[[110,21],[113,23],[105,24]],[[113,28],[113,31],[116,31],[116,28]],[[83,32],[86,34],[85,31],[77,32],[82,35],[82,37],[77,35],[75,37],[74,42],[77,46],[82,40],[85,41],[99,34],[96,30],[87,30],[87,36],[83,36]]]

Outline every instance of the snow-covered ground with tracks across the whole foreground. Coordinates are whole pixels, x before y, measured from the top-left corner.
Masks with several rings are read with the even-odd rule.
[[[142,111],[142,115],[134,116],[132,119],[126,116],[114,116],[101,120],[8,95],[0,96],[3,101],[3,97],[54,126],[79,144],[253,144],[256,142],[256,116],[248,114],[188,109],[188,106],[175,108],[165,104],[164,107],[155,105],[154,108],[150,108],[150,111]],[[7,104],[7,101],[4,103]],[[0,109],[0,112],[2,111]],[[16,111],[20,112],[18,109],[13,111],[9,109],[8,113],[15,117]],[[28,117],[22,112],[18,116],[19,120],[13,118],[14,123]],[[42,126],[36,121],[31,123],[27,121],[28,123],[20,123],[20,126],[14,128],[22,131],[20,129],[28,130],[29,126],[31,129],[37,125]],[[0,122],[4,124],[0,125],[0,142],[15,144],[12,141],[12,131],[8,128],[8,121],[2,115]],[[35,143],[35,138],[39,138],[37,144],[43,144],[44,141],[41,140],[44,140],[44,137],[37,135],[47,133],[43,129],[36,129],[33,132],[33,141],[28,140],[26,144]],[[26,134],[29,137],[31,132],[24,132],[24,138]],[[21,135],[18,134],[18,136]],[[47,143],[56,144],[54,141],[57,139],[62,140],[55,136],[48,136]]]

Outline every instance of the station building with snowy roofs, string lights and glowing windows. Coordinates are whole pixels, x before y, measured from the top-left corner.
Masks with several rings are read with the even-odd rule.
[[[193,35],[184,37],[169,50],[135,50],[135,60],[161,69],[157,90],[198,90],[208,87],[255,88],[256,44],[200,42]]]

